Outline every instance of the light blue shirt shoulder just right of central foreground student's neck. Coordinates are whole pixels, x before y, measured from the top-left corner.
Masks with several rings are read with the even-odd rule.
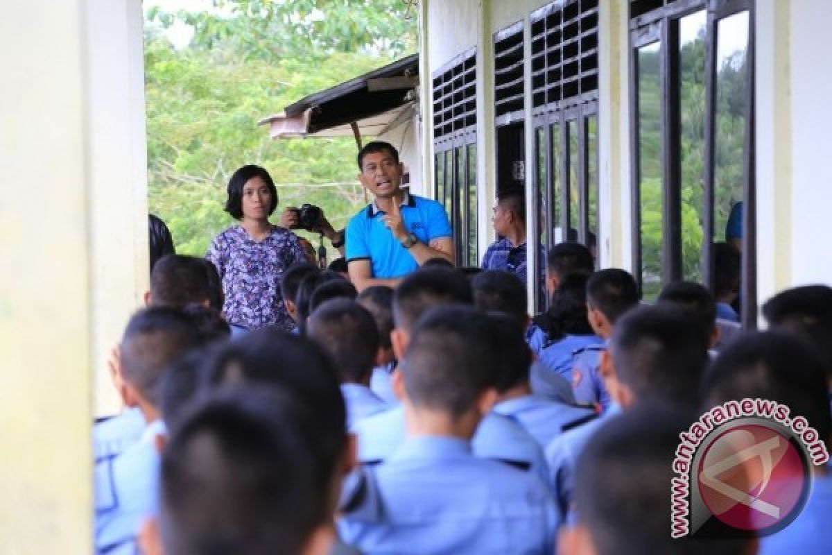
[[[564,427],[595,417],[592,409],[556,403],[537,395],[507,399],[495,405],[493,410],[520,424],[542,448],[546,448],[552,439],[562,434]]]

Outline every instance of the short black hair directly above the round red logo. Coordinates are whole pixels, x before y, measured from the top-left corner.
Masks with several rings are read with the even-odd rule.
[[[785,404],[830,444],[829,388],[823,360],[803,339],[777,331],[740,335],[705,375],[704,409],[730,400],[767,399]]]

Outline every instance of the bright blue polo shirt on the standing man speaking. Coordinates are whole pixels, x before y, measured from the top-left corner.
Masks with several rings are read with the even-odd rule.
[[[445,209],[437,201],[405,193],[401,205],[404,229],[428,245],[439,237],[453,236]],[[366,259],[372,264],[374,278],[397,278],[418,268],[418,263],[401,242],[384,225],[384,212],[375,202],[353,216],[346,228],[344,257]]]

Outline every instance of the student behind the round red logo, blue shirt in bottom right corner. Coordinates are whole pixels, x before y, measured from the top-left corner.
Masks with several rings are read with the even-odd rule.
[[[830,448],[832,417],[824,364],[799,338],[773,331],[740,337],[711,364],[704,391],[703,410],[746,398],[785,404],[791,418],[804,417],[827,451]],[[812,474],[809,499],[800,516],[780,532],[761,538],[760,553],[832,553],[830,466],[812,466]]]

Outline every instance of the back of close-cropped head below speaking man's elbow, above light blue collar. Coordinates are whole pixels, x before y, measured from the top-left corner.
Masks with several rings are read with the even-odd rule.
[[[342,382],[363,384],[369,378],[379,330],[363,306],[351,299],[328,300],[310,315],[306,333],[332,357]]]

